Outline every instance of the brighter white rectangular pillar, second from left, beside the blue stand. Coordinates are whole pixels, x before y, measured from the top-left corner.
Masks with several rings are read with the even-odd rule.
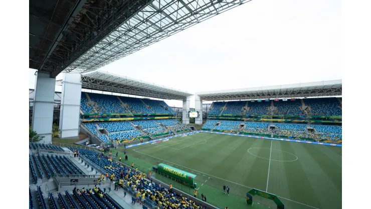
[[[60,138],[78,137],[80,131],[81,75],[64,73],[62,81]]]

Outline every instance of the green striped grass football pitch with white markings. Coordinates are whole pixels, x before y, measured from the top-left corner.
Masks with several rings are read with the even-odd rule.
[[[276,208],[259,196],[246,205],[252,188],[277,195],[286,208],[341,208],[340,147],[198,133],[129,148],[127,154],[142,171],[165,163],[196,174],[199,195],[220,208]],[[193,195],[186,185],[155,178]],[[223,184],[230,187],[229,196]]]

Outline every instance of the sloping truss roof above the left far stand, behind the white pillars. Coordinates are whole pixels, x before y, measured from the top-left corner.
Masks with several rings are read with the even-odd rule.
[[[193,94],[154,83],[123,77],[102,71],[81,75],[82,88],[109,91],[161,99],[183,100]]]

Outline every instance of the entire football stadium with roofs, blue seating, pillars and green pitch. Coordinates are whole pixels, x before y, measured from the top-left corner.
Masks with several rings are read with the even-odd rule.
[[[248,2],[32,0],[29,208],[341,208],[342,80],[188,92],[100,70]]]

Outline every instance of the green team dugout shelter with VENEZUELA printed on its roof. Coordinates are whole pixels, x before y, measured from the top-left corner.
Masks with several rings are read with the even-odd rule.
[[[171,167],[163,163],[157,165],[157,170],[161,173],[174,177],[180,181],[186,182],[192,186],[194,185],[194,180],[196,178],[195,174]]]

